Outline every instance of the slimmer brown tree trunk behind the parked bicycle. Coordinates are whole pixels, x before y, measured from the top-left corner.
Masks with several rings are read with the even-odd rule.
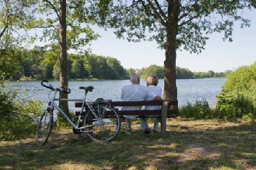
[[[68,87],[67,80],[67,46],[66,46],[66,0],[60,0],[61,9],[60,9],[60,87]],[[67,99],[68,94],[60,93],[60,98]],[[68,102],[60,101],[60,108],[69,115]]]

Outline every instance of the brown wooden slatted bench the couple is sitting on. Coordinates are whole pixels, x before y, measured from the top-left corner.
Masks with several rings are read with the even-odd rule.
[[[118,109],[123,106],[162,106],[161,110],[120,110],[118,113],[120,117],[124,115],[139,115],[139,118],[149,118],[147,115],[158,115],[161,118],[161,134],[166,133],[166,118],[176,118],[178,113],[178,101],[112,101],[111,104]],[[76,102],[75,107],[81,108],[82,103]],[[86,106],[87,107],[87,106]],[[80,111],[76,111],[76,117],[78,118]],[[83,112],[84,114],[84,112]],[[83,116],[83,115],[82,115]]]

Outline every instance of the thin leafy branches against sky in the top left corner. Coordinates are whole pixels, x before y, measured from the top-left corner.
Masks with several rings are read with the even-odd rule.
[[[36,0],[0,0],[0,40],[2,45],[21,45],[29,31]]]

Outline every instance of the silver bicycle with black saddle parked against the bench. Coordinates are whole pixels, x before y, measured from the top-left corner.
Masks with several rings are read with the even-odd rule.
[[[55,98],[56,93],[71,93],[68,87],[54,88],[51,84],[47,84],[48,80],[42,80],[41,85],[50,89],[48,93],[49,103],[48,108],[42,114],[36,130],[36,143],[39,146],[45,145],[47,142],[51,129],[53,127],[53,110],[56,108],[62,116],[73,126],[73,132],[81,137],[81,133],[86,133],[89,138],[95,141],[109,141],[114,139],[121,128],[121,118],[116,108],[111,105],[111,100],[100,100],[87,102],[86,96],[88,92],[92,92],[94,87],[80,87],[79,89],[85,91],[85,95],[82,99],[61,99]],[[52,97],[50,93],[54,92]],[[64,113],[64,111],[55,103],[55,101],[80,101],[82,107],[78,118],[78,123],[75,124]],[[88,106],[88,107],[86,107]],[[85,108],[87,108],[85,110]],[[82,116],[83,111],[84,115]]]

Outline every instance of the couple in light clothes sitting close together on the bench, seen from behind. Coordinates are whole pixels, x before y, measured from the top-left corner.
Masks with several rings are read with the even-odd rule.
[[[133,73],[130,76],[130,81],[132,84],[125,85],[122,88],[121,92],[121,100],[122,101],[149,101],[149,100],[162,100],[161,96],[161,88],[157,86],[158,77],[154,75],[150,75],[146,78],[147,87],[140,85],[140,76],[136,73]],[[161,106],[145,106],[145,109],[161,109]],[[125,106],[122,110],[141,110],[141,107],[128,107]],[[150,115],[154,116],[154,115]],[[135,115],[124,115],[126,118],[126,130],[127,134],[131,134],[131,119],[136,118]],[[151,131],[149,130],[146,118],[140,118],[141,120],[141,129],[144,129],[144,134],[149,134]],[[159,124],[159,118],[154,118],[154,128],[153,132],[157,132]]]

